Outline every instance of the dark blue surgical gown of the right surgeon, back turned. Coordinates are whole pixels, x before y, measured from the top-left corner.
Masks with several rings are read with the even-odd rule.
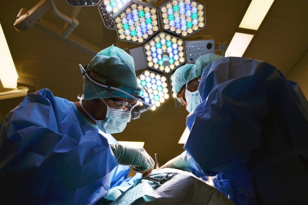
[[[194,173],[231,180],[237,204],[307,201],[308,102],[274,66],[227,57],[203,70],[184,146]]]

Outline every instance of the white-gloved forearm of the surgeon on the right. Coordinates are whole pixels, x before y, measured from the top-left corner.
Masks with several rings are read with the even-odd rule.
[[[188,154],[186,151],[184,151],[182,154],[177,156],[176,158],[171,159],[167,163],[165,163],[160,169],[163,168],[174,168],[174,169],[180,169],[183,171],[190,171],[190,165],[188,163]]]

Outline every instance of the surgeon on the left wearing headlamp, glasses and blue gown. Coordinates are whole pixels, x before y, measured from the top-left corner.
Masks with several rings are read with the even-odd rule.
[[[140,100],[133,58],[111,46],[81,70],[79,102],[44,88],[2,121],[1,204],[94,204],[109,188],[136,181],[126,179],[128,166],[152,172],[154,161],[143,148],[99,134],[122,132]]]

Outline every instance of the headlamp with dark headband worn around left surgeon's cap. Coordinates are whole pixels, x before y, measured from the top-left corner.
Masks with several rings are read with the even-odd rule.
[[[119,83],[113,82],[95,73],[93,70],[91,70],[89,66],[87,66],[86,70],[84,70],[83,66],[79,64],[79,68],[83,75],[83,79],[84,79],[84,76],[86,76],[92,83],[98,86],[104,87],[109,92],[112,92],[124,98],[129,97],[139,102],[142,102],[142,105],[136,106],[135,108],[132,109],[132,119],[138,119],[141,113],[148,111],[153,107],[153,105],[150,102],[149,103],[145,102],[144,98],[140,96],[140,92],[142,91],[141,89],[132,89],[132,88],[123,86]],[[146,93],[148,93],[148,91],[145,88],[144,90]]]

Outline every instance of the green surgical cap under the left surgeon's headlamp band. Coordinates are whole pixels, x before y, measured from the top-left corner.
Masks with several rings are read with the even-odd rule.
[[[97,74],[119,83],[123,86],[138,89],[137,77],[135,73],[134,59],[124,50],[110,46],[100,51],[90,62],[90,68]],[[84,100],[98,99],[90,85],[90,80],[85,77],[83,83]],[[94,87],[103,98],[121,97],[94,84]]]

